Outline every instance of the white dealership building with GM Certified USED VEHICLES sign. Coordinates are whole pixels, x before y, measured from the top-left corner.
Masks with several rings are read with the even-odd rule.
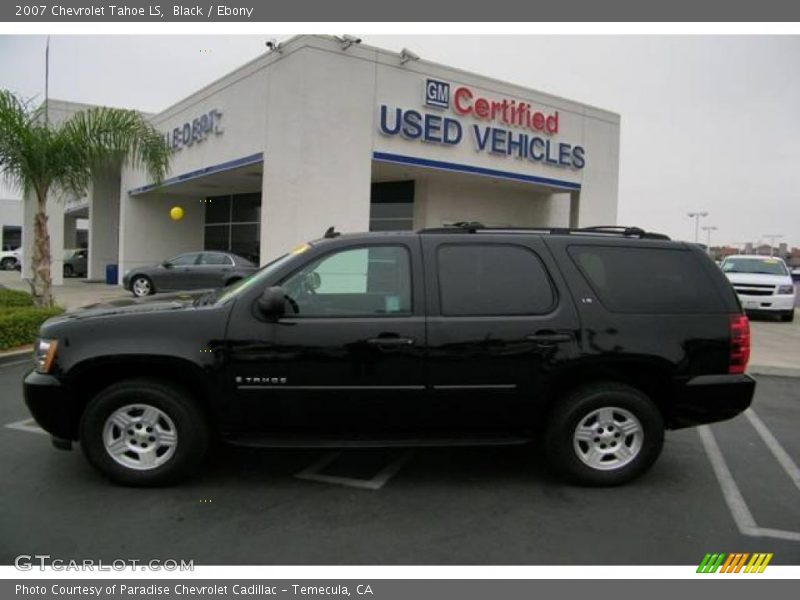
[[[292,38],[148,118],[172,148],[160,186],[123,167],[49,203],[53,248],[88,218],[90,279],[202,249],[263,264],[330,225],[616,223],[619,115],[354,38]]]

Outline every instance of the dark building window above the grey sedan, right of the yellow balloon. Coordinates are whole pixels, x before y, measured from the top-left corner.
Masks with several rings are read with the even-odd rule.
[[[261,194],[206,199],[204,250],[223,250],[259,263]]]

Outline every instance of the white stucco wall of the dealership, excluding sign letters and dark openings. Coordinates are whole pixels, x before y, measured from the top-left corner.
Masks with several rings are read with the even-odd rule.
[[[458,115],[424,102],[425,80],[466,85],[476,96],[529,102],[533,110],[559,114],[554,134],[530,135],[554,144],[580,145],[582,169],[553,166],[517,156],[478,151],[472,125],[519,131],[499,122]],[[442,145],[379,131],[381,104],[458,119],[463,138]],[[174,153],[168,177],[262,154],[261,260],[319,237],[329,225],[340,231],[369,226],[373,154],[389,153],[436,160],[511,175],[580,185],[577,224],[614,224],[617,216],[619,116],[580,103],[481,77],[443,65],[411,61],[401,65],[388,51],[363,45],[343,50],[332,38],[301,36],[199,90],[152,118],[164,132],[211,110],[222,113],[221,133]],[[438,112],[437,112],[438,110]],[[415,226],[443,220],[485,220],[520,226],[566,226],[570,197],[534,182],[508,184],[503,177],[470,176],[468,182],[425,167],[417,180]],[[466,177],[466,176],[463,176]],[[491,183],[494,180],[496,183]],[[120,271],[202,248],[202,194],[176,201],[169,187],[158,194],[129,195],[149,183],[141,172],[125,169],[120,193]],[[209,191],[207,195],[225,193]],[[173,203],[186,209],[179,223],[168,218]],[[147,243],[143,243],[146,239]]]

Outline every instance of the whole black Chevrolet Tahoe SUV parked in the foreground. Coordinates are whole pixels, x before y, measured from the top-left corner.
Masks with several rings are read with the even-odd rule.
[[[25,401],[129,485],[248,446],[541,439],[574,481],[644,472],[664,430],[749,405],[750,334],[696,245],[638,228],[340,235],[193,300],[47,321]]]

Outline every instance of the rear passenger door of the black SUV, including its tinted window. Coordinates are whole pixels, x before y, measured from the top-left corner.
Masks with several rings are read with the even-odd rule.
[[[577,311],[536,236],[423,235],[434,406],[460,427],[533,426],[577,354]]]

